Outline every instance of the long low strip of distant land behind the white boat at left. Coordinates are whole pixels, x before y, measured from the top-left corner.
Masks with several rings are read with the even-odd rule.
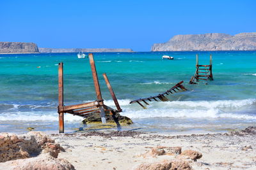
[[[130,48],[39,48],[40,53],[133,52]]]

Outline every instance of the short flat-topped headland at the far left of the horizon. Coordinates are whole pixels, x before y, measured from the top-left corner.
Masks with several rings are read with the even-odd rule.
[[[38,53],[35,43],[0,42],[0,53]]]

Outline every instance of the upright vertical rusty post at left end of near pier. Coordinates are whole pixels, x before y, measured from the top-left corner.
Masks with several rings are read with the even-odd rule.
[[[59,113],[59,132],[64,132],[64,113],[60,112],[60,107],[63,108],[63,62],[59,63],[58,69],[58,79],[59,79],[59,106],[58,106],[58,113]]]

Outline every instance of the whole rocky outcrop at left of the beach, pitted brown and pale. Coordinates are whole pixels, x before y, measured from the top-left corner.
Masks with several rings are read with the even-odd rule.
[[[74,170],[65,159],[57,159],[63,148],[42,132],[0,133],[0,169]]]

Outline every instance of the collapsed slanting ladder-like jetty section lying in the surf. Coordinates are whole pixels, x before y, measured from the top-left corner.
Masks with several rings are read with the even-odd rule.
[[[138,103],[140,104],[140,106],[143,109],[147,109],[145,106],[143,106],[143,104],[141,104],[142,102],[149,105],[147,103],[147,101],[169,101],[169,99],[167,97],[165,97],[164,95],[169,95],[169,94],[173,94],[175,92],[184,92],[188,89],[186,89],[183,85],[182,85],[183,81],[180,81],[179,83],[177,83],[175,86],[173,86],[171,89],[167,90],[166,92],[163,92],[161,94],[158,94],[157,96],[150,96],[150,97],[146,97],[146,98],[142,98],[142,99],[137,99],[134,101],[131,101],[130,104],[132,103]]]

